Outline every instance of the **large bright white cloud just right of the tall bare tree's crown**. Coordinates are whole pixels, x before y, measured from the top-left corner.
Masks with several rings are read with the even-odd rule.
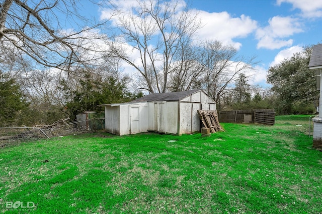
[[[203,26],[196,32],[199,40],[219,40],[223,45],[233,45],[239,49],[241,44],[233,39],[247,37],[257,28],[257,22],[245,15],[233,18],[227,12],[196,13],[199,14]]]

